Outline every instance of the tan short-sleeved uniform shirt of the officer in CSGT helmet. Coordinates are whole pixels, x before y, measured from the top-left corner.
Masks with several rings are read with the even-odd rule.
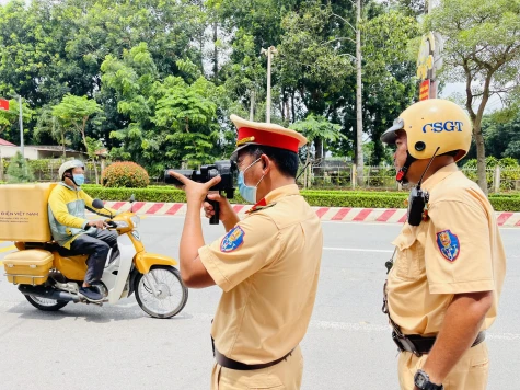
[[[481,188],[457,165],[428,177],[429,220],[407,222],[386,286],[392,320],[405,334],[438,333],[454,294],[494,291],[483,330],[497,316],[506,254],[495,213]]]

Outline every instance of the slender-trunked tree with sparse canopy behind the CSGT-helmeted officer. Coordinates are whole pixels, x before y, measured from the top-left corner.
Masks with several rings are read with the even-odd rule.
[[[443,77],[465,83],[473,124],[478,184],[487,194],[482,119],[493,94],[520,85],[520,0],[442,0],[426,18],[425,31],[446,37]]]

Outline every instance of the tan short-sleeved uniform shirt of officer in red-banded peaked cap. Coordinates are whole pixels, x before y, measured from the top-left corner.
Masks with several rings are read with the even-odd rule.
[[[280,358],[303,339],[322,257],[320,219],[297,185],[270,192],[265,203],[198,252],[223,290],[215,345],[245,364]]]

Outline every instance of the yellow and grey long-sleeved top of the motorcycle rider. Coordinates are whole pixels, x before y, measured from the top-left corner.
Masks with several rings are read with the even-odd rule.
[[[113,216],[118,214],[111,208],[95,209],[92,206],[92,198],[83,190],[80,187],[74,190],[63,182],[50,192],[48,199],[50,231],[61,246],[70,249],[70,243],[79,234],[89,231],[85,208],[104,217],[111,217],[109,213]]]

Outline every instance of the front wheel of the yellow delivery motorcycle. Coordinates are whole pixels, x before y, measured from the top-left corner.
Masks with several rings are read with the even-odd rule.
[[[153,286],[152,286],[153,285]],[[155,266],[135,282],[140,308],[154,318],[171,318],[181,312],[188,299],[188,289],[174,267]]]

